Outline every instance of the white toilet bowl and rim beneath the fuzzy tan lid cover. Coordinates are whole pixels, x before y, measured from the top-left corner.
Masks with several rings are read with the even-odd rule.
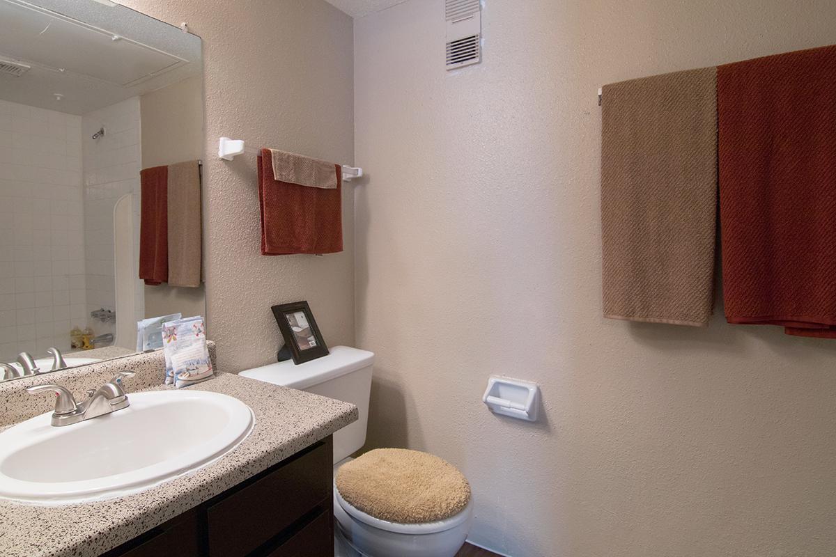
[[[351,458],[334,466],[337,469]],[[454,557],[473,521],[473,504],[448,519],[399,524],[376,519],[339,494],[334,482],[335,557]]]

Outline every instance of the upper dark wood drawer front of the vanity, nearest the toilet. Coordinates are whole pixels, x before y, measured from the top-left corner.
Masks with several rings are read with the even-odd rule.
[[[223,494],[206,509],[209,554],[243,557],[333,498],[331,438],[259,475],[242,489]],[[332,548],[333,550],[333,548]]]

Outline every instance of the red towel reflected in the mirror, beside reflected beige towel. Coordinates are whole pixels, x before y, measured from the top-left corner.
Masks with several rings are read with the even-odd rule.
[[[140,279],[147,285],[168,281],[168,167],[140,172]]]

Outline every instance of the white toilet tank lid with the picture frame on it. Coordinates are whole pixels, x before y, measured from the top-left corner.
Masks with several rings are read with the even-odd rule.
[[[356,372],[363,367],[369,367],[374,362],[374,352],[352,347],[332,347],[328,356],[319,357],[310,362],[298,365],[294,364],[293,360],[276,362],[244,370],[238,375],[274,385],[306,389],[346,373]]]

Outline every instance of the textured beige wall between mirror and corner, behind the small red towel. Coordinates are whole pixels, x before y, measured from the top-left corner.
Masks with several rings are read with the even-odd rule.
[[[344,189],[345,251],[261,256],[255,158],[219,160],[217,138],[319,159],[354,154],[352,22],[324,0],[120,0],[203,39],[206,98],[206,306],[218,367],[273,361],[270,306],[307,299],[330,345],[354,343],[354,212]]]

